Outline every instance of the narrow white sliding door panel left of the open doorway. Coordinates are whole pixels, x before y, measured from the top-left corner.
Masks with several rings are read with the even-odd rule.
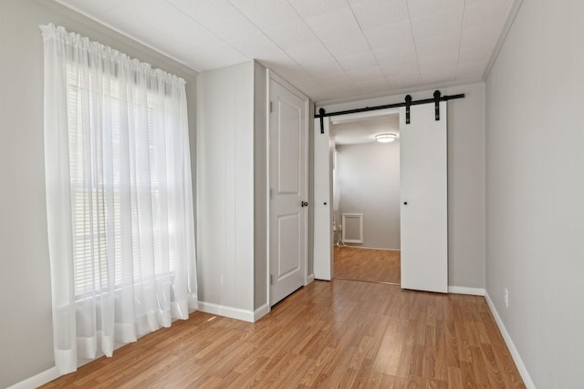
[[[332,149],[330,119],[314,121],[314,278],[330,281],[333,275]]]

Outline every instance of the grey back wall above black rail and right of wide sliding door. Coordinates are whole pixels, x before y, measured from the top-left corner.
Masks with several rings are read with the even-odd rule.
[[[448,284],[485,288],[485,84],[440,88],[448,102]],[[412,93],[432,97],[433,90]],[[327,112],[404,101],[404,95],[324,107]],[[412,118],[413,119],[413,118]]]

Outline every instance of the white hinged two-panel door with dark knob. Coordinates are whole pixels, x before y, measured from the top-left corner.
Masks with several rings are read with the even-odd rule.
[[[308,98],[269,81],[270,305],[305,282]]]

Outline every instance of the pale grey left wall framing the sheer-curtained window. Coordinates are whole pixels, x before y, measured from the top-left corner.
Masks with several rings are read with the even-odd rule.
[[[38,25],[65,26],[187,80],[164,56],[52,1],[0,2],[0,387],[55,365],[43,147],[43,43]],[[194,143],[193,143],[194,145]]]

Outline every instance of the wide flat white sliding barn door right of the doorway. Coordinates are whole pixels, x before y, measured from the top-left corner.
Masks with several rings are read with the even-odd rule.
[[[448,292],[446,102],[400,109],[401,287]]]

